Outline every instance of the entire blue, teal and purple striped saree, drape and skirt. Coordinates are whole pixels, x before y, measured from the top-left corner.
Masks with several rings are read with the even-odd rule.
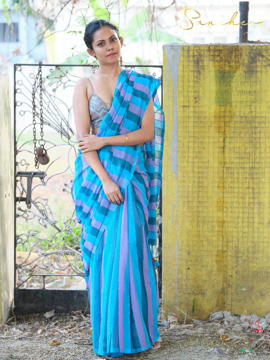
[[[123,203],[109,202],[80,149],[75,160],[71,194],[82,225],[81,258],[90,298],[93,349],[99,355],[144,351],[159,337],[159,296],[152,258],[164,138],[159,85],[160,80],[152,75],[123,70],[112,107],[96,134],[114,136],[138,130],[153,98],[153,141],[143,147],[107,145],[98,150],[102,165],[120,188]]]

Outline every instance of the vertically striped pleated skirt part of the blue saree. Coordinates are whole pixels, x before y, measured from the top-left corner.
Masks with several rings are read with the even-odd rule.
[[[132,179],[96,248],[89,276],[93,350],[121,356],[159,337],[159,294],[148,244],[149,175],[145,145]]]

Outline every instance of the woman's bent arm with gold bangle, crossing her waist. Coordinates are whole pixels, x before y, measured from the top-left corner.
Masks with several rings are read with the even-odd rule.
[[[154,139],[154,105],[151,97],[149,104],[141,119],[141,127],[138,130],[127,133],[127,145],[138,145],[146,143]],[[85,133],[79,141],[79,146],[82,153],[93,151],[93,149],[100,149],[105,145],[125,145],[126,135],[104,136],[99,137],[93,134]]]

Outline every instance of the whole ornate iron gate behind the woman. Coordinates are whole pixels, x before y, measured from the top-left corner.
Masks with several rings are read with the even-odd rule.
[[[162,66],[125,67],[148,74],[148,68],[155,69],[152,74],[161,79],[162,106]],[[71,197],[78,155],[71,104],[76,81],[89,75],[91,66],[42,65],[42,95],[35,81],[38,68],[38,64],[14,64],[14,312],[90,312],[79,246],[81,226]],[[37,168],[35,142],[37,146],[44,143],[50,158],[47,165],[38,163]],[[160,297],[161,194],[162,190],[157,233]]]

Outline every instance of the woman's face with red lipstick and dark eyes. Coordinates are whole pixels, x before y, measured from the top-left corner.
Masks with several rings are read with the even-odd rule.
[[[116,63],[121,57],[121,47],[123,38],[118,39],[116,31],[108,26],[104,26],[94,33],[92,43],[93,50],[87,49],[89,55],[98,58],[99,64]],[[115,55],[110,55],[113,54]]]

